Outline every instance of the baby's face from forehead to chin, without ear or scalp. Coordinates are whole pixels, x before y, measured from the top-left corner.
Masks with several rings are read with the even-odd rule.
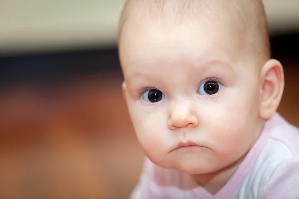
[[[124,29],[119,49],[144,152],[156,165],[188,174],[241,159],[261,131],[256,59],[226,27],[198,23]]]

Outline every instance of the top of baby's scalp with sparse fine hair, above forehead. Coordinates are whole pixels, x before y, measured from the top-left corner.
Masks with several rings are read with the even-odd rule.
[[[270,58],[262,0],[127,0],[120,18],[118,39],[119,42],[122,39],[123,28],[139,28],[147,23],[167,28],[203,19],[215,27],[225,24],[230,32],[246,38],[246,43],[263,61]]]

